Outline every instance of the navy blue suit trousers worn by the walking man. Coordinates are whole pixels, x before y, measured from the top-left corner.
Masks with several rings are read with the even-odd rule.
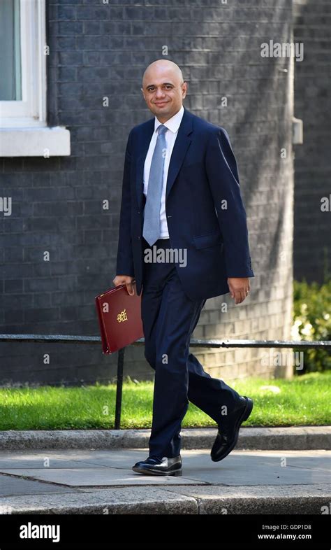
[[[221,423],[222,411],[229,414],[235,410],[240,395],[223,380],[207,374],[189,352],[191,334],[206,299],[193,301],[186,296],[174,262],[145,262],[145,251],[153,247],[166,251],[171,248],[170,239],[158,239],[149,246],[142,237],[145,358],[155,371],[149,456],[173,458],[180,453],[180,430],[189,401]],[[196,283],[203,285],[203,281]]]

